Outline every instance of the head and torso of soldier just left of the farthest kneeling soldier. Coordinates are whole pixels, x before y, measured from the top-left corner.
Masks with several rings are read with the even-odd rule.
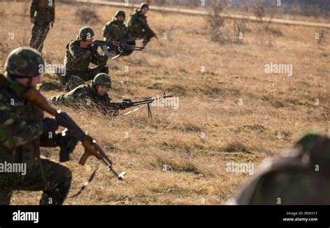
[[[103,27],[104,40],[118,41],[128,38],[127,28],[124,24],[125,12],[117,11],[112,22],[107,22]]]

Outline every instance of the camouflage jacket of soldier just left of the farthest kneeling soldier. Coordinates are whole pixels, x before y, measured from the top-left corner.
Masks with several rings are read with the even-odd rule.
[[[123,38],[128,38],[127,28],[123,22],[113,20],[108,22],[103,27],[103,37],[107,41],[115,41]]]

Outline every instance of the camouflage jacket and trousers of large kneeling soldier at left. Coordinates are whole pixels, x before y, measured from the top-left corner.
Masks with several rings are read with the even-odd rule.
[[[24,86],[7,79],[0,85],[0,163],[26,164],[26,175],[0,173],[0,204],[10,204],[13,190],[42,190],[40,204],[62,204],[70,189],[70,169],[46,159],[38,161],[39,147],[56,146],[59,136],[44,132],[43,111],[24,102]]]

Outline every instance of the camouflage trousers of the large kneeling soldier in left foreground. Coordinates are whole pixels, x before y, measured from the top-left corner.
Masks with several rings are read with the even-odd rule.
[[[47,184],[42,177],[39,162],[35,162],[25,176],[17,173],[0,174],[0,205],[10,204],[13,190],[43,191],[40,205],[63,204],[71,185],[71,171],[47,159],[40,159]]]

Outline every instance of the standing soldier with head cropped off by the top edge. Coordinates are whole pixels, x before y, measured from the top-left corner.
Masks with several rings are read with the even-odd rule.
[[[33,23],[30,47],[42,52],[43,43],[55,21],[55,0],[32,0],[30,21]]]

